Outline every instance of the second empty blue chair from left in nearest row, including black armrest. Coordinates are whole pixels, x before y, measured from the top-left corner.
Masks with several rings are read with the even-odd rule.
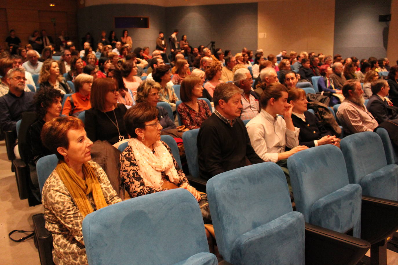
[[[264,162],[214,176],[206,186],[217,246],[232,264],[356,264],[369,242],[305,224],[282,169]]]

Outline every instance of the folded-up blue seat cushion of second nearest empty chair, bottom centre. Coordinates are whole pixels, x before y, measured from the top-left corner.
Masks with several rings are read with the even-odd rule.
[[[304,216],[290,212],[238,237],[232,264],[305,264]]]

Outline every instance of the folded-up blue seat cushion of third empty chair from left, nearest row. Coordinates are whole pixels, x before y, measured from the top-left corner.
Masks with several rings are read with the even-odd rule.
[[[361,186],[348,184],[312,205],[310,223],[345,233],[353,228],[353,236],[361,237]]]

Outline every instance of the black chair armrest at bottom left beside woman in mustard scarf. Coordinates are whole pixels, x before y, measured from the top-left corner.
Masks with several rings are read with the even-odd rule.
[[[35,231],[35,245],[39,251],[41,265],[52,265],[53,262],[53,236],[45,228],[44,215],[42,213],[32,216],[33,230]]]

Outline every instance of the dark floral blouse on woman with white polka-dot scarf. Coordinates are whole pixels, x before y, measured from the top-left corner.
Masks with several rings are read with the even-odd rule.
[[[166,146],[170,155],[172,155],[170,147],[168,147],[168,145],[163,141],[162,143],[164,144],[164,146]],[[168,190],[162,188],[155,189],[152,187],[145,186],[144,180],[142,180],[141,177],[140,168],[137,165],[137,161],[135,160],[132,149],[133,147],[129,145],[120,155],[120,177],[130,197],[134,198],[145,194]],[[174,157],[173,157],[173,162],[179,176],[179,183],[176,184],[179,187],[183,183],[188,182],[188,179],[185,176],[185,174],[182,172],[182,170],[179,168],[176,159],[174,159]],[[162,172],[162,180],[170,181],[169,177],[166,176],[164,172]]]

